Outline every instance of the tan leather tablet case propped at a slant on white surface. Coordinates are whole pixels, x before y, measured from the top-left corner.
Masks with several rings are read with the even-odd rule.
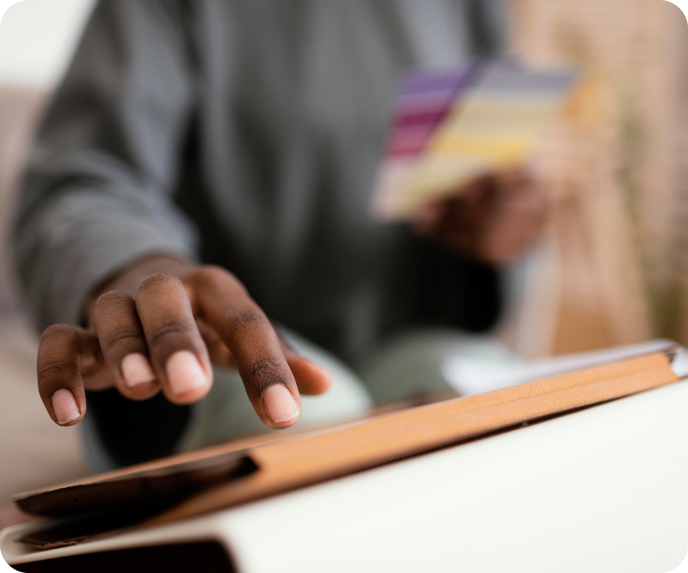
[[[673,349],[298,434],[268,434],[15,496],[47,516],[137,512],[151,526],[400,460],[539,418],[675,382]],[[153,517],[150,517],[153,515]],[[109,527],[124,526],[106,519]],[[28,540],[43,548],[90,534]],[[56,541],[58,541],[56,543]]]

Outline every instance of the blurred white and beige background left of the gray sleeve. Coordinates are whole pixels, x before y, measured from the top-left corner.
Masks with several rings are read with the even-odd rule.
[[[38,335],[21,312],[8,235],[14,185],[32,131],[93,5],[93,0],[22,1],[0,22],[0,508],[21,490],[90,473],[78,429],[56,426],[39,398]]]

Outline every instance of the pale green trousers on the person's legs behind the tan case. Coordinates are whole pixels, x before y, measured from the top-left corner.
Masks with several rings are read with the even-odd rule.
[[[497,360],[510,356],[490,336],[432,329],[394,338],[374,352],[357,375],[341,360],[305,338],[283,327],[279,330],[294,350],[332,374],[330,391],[321,396],[301,396],[302,413],[296,428],[354,418],[375,405],[453,393],[442,376],[442,364],[449,356]],[[191,450],[270,431],[273,430],[266,428],[253,410],[239,374],[215,369],[213,389],[195,406],[180,449]]]

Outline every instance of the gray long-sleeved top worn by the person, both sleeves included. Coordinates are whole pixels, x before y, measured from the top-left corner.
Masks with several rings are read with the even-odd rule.
[[[502,47],[499,0],[102,0],[21,188],[36,325],[127,263],[218,263],[344,358],[412,324],[482,328],[491,270],[369,218],[396,84]]]

